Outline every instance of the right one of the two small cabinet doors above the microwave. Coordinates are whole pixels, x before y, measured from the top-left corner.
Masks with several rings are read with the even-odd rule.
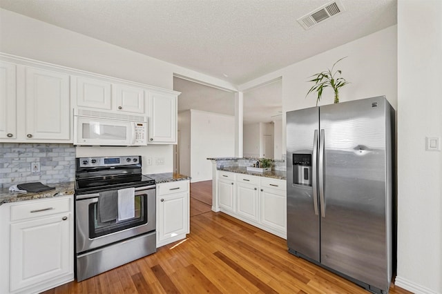
[[[117,110],[144,113],[144,89],[116,84]]]

